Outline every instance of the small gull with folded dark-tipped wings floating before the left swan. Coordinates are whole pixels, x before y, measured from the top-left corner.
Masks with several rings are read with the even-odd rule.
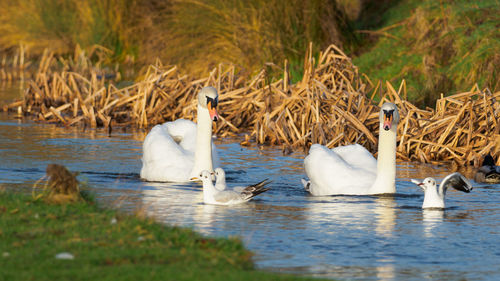
[[[203,202],[212,205],[235,205],[249,201],[253,197],[268,191],[265,188],[267,180],[249,185],[241,191],[236,190],[218,190],[212,182],[212,174],[209,171],[202,171],[199,179],[203,182]]]

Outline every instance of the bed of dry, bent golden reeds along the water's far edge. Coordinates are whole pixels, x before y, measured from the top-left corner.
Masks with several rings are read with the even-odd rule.
[[[176,66],[157,62],[140,81],[121,89],[86,60],[75,59],[73,64],[66,62],[63,71],[52,71],[60,60],[46,53],[24,99],[4,109],[65,126],[148,129],[177,118],[196,120],[196,94],[210,85],[220,94],[221,121],[214,128],[220,137],[244,135],[242,145],[280,145],[286,151],[307,149],[313,143],[328,147],[359,143],[375,152],[379,106],[392,101],[401,115],[398,158],[476,166],[486,153],[500,158],[500,92],[476,86],[441,97],[434,109],[420,109],[406,100],[405,81],[397,90],[389,82],[371,82],[334,45],[317,58],[312,53],[310,46],[303,78],[295,84],[290,82],[286,61],[278,81],[270,79],[266,68],[245,81],[228,64],[194,79]]]

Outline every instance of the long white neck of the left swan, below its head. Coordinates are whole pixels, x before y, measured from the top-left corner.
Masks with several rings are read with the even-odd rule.
[[[210,120],[208,109],[200,105],[198,105],[196,130],[196,150],[194,152],[194,165],[191,170],[191,177],[199,176],[203,170],[214,171],[212,166],[212,120]]]

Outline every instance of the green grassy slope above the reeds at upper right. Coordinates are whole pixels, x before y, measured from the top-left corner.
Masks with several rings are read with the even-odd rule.
[[[353,60],[361,72],[396,85],[405,79],[420,105],[475,83],[500,89],[498,0],[393,2],[373,28],[385,34]]]

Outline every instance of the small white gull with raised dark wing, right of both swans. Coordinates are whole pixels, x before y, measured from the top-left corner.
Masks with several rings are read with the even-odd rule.
[[[470,182],[458,172],[446,176],[439,185],[439,190],[436,186],[436,180],[433,178],[426,178],[423,182],[413,179],[411,181],[420,186],[425,192],[424,203],[422,204],[423,209],[444,209],[444,197],[449,187],[465,193],[469,193],[472,190]]]

